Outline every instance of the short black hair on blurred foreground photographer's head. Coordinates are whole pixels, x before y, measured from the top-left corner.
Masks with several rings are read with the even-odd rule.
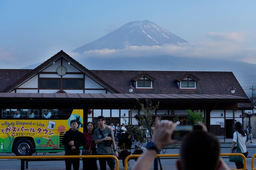
[[[180,163],[183,170],[215,170],[219,163],[220,143],[211,133],[196,130],[188,133],[180,147]],[[194,164],[200,158],[205,164]],[[195,165],[194,168],[191,165]],[[205,165],[208,165],[205,168]]]

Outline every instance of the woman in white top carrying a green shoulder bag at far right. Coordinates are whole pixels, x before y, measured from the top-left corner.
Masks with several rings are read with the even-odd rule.
[[[248,155],[248,150],[247,150],[247,145],[246,145],[246,134],[244,133],[242,124],[240,122],[236,122],[235,130],[236,131],[234,132],[234,135],[233,135],[233,144],[231,146],[230,153],[234,153],[234,151],[235,151],[235,153],[239,153],[239,149],[240,149],[242,154],[246,158]],[[242,162],[239,161],[239,162],[235,162],[235,163],[236,163],[236,169],[244,168],[243,161]]]

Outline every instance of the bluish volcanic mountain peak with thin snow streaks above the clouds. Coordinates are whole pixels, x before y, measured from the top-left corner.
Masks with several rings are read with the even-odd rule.
[[[188,41],[156,25],[154,22],[144,20],[129,22],[98,40],[76,48],[73,52],[83,53],[88,50],[104,48],[122,49],[125,46],[161,46],[183,42]]]

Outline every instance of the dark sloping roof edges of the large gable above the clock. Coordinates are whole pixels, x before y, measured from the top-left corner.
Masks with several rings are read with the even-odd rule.
[[[72,57],[70,57],[68,54],[63,52],[63,50],[60,50],[57,54],[53,55],[51,58],[46,60],[44,63],[36,67],[34,70],[30,70],[21,78],[17,78],[16,81],[12,84],[9,84],[7,88],[1,90],[0,92],[9,92],[15,89],[16,86],[22,84],[23,82],[27,81],[29,78],[35,76],[36,74],[40,73],[42,70],[44,70],[46,67],[52,65],[53,62],[59,60],[60,58],[65,59],[67,62],[71,63],[73,66],[75,66],[78,70],[83,72],[88,77],[92,78],[94,81],[98,82],[100,85],[102,85],[104,88],[106,88],[110,92],[118,93],[116,89],[108,85],[108,83],[101,80],[98,76],[96,76],[94,73],[92,73],[90,70],[86,69],[82,64],[78,63],[76,60],[74,60]],[[23,72],[24,73],[24,72]]]

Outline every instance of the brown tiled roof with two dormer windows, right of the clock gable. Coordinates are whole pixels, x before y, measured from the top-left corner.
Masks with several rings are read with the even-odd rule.
[[[188,71],[124,71],[124,70],[91,70],[95,75],[107,82],[120,93],[129,93],[130,80],[141,73],[156,78],[153,89],[135,89],[135,93],[151,94],[220,94],[232,95],[230,88],[236,88],[235,96],[246,97],[244,90],[232,72],[190,71],[199,79],[196,89],[179,89],[175,79]],[[227,90],[226,90],[227,89]]]

